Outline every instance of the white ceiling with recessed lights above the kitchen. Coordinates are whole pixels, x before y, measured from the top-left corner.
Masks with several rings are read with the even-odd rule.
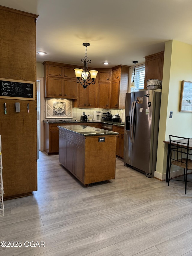
[[[37,62],[82,65],[88,42],[91,67],[144,63],[166,41],[192,44],[192,0],[0,0],[38,14]]]

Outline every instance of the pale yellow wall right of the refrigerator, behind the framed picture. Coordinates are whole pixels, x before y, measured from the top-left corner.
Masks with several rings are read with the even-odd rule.
[[[165,43],[164,69],[155,177],[164,180],[169,135],[192,138],[192,112],[179,112],[182,80],[192,81],[192,45],[170,40]],[[170,111],[173,118],[170,119]]]

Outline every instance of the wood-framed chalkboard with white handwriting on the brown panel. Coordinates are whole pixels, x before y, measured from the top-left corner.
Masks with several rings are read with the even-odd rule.
[[[35,101],[35,82],[0,78],[0,98]]]

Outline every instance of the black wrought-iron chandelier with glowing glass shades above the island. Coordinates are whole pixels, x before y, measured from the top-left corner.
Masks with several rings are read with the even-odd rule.
[[[89,43],[83,43],[85,46],[85,59],[82,59],[81,61],[84,64],[83,69],[81,68],[74,68],[75,75],[77,78],[77,83],[80,83],[84,89],[87,88],[88,85],[95,84],[95,78],[97,77],[97,70],[88,70],[87,64],[91,63],[91,60],[87,60],[87,47],[90,45]],[[81,77],[81,79],[80,79]]]

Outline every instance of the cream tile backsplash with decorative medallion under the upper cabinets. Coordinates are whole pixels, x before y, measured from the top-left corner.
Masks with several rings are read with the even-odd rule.
[[[44,101],[44,120],[80,120],[83,112],[85,112],[85,115],[92,115],[93,117],[94,111],[100,111],[101,113],[110,111],[112,115],[119,114],[120,118],[125,116],[125,109],[78,108],[73,107],[73,100],[66,99],[52,98]],[[122,122],[125,122],[125,120],[122,120]]]

